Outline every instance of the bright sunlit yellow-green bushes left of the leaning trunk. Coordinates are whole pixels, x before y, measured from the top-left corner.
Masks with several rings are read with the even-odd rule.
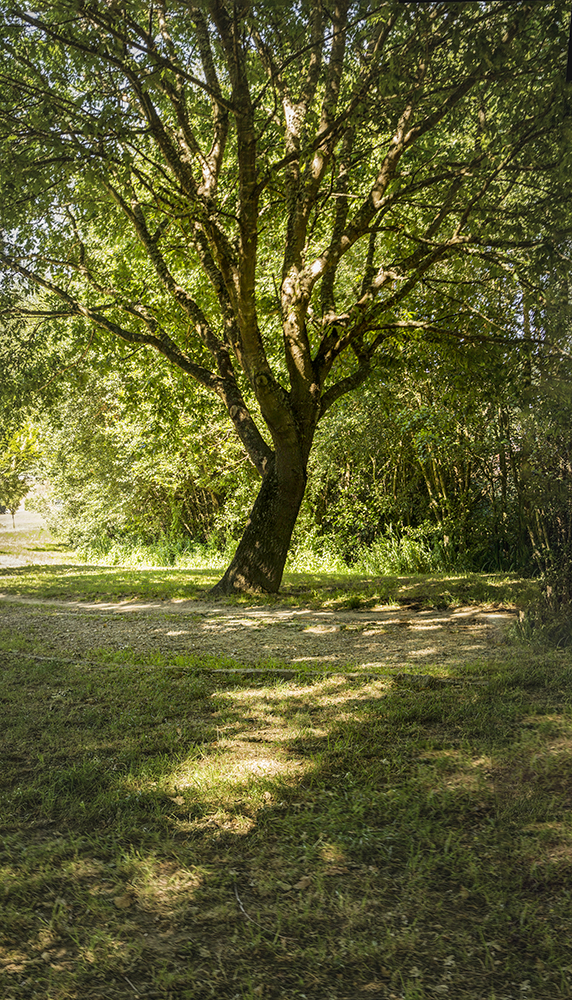
[[[181,379],[160,368],[153,379],[135,359],[120,376],[102,371],[82,381],[43,424],[49,493],[35,506],[53,530],[85,556],[111,562],[134,546],[154,547],[162,564],[191,543],[224,548],[236,530],[232,511],[235,522],[244,517],[253,475],[221,415]]]

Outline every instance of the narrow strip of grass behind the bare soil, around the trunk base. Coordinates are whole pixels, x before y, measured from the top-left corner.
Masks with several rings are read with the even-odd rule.
[[[22,565],[0,566],[0,591],[31,597],[77,600],[208,599],[231,557],[197,547],[177,565],[153,565],[157,551],[116,548],[104,558],[85,561],[89,554],[66,549],[42,530],[0,533],[0,554]],[[93,555],[93,553],[92,553]],[[46,559],[44,563],[36,560]],[[415,602],[421,607],[447,608],[458,604],[515,603],[524,607],[538,584],[511,573],[374,572],[347,566],[340,557],[310,558],[295,549],[279,594],[237,595],[225,603],[276,604],[360,609],[377,604]]]

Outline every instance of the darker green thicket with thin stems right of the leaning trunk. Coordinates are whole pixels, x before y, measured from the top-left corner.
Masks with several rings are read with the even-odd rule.
[[[412,571],[532,568],[518,475],[525,361],[422,345],[388,359],[383,389],[376,376],[320,426],[295,544],[317,531],[352,563],[373,545],[395,569],[406,548]]]

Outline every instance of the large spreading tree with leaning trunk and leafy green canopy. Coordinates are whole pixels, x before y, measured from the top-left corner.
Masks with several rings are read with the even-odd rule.
[[[11,312],[222,400],[262,483],[217,592],[278,590],[318,422],[396,339],[498,333],[408,300],[542,241],[521,207],[559,178],[566,7],[4,5]]]

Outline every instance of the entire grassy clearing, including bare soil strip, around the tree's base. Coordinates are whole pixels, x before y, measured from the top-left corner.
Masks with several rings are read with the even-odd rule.
[[[528,584],[213,605],[40,531],[0,538],[2,1000],[572,996],[572,655],[517,643]]]

